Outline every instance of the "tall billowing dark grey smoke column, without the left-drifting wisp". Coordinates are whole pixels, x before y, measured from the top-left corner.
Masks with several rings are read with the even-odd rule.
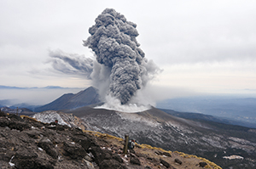
[[[152,61],[144,58],[136,37],[137,25],[113,8],[106,8],[89,29],[90,37],[84,46],[91,48],[96,60],[105,67],[104,79],[108,79],[108,95],[127,104],[138,89],[144,87],[159,70]],[[94,76],[100,76],[94,73]]]

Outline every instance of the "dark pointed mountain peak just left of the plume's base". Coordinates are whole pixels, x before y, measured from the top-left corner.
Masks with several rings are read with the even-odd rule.
[[[60,98],[55,99],[49,104],[45,104],[34,111],[40,112],[44,110],[64,110],[64,109],[74,109],[90,104],[100,103],[99,94],[95,87],[88,87],[84,91],[79,93],[67,93],[62,95]]]

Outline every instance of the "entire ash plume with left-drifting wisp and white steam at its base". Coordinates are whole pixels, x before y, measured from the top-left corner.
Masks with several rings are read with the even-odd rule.
[[[84,46],[92,49],[96,59],[81,54],[50,51],[50,62],[62,74],[83,76],[99,89],[102,108],[126,112],[148,109],[154,101],[146,85],[160,69],[145,59],[137,42],[137,25],[113,8],[106,8],[89,29]]]

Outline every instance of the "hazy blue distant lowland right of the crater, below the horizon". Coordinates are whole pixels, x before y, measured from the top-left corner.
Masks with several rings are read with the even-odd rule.
[[[242,121],[240,125],[243,126],[247,125],[247,123],[256,125],[255,98],[202,96],[166,99],[158,102],[157,107],[166,110],[225,117],[226,119],[236,121],[235,124],[238,121]]]

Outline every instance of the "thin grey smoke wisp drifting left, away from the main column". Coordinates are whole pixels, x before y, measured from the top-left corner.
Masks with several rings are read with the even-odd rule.
[[[55,70],[63,74],[86,76],[90,79],[93,70],[93,59],[85,58],[84,55],[67,54],[61,50],[50,51],[50,62]]]

